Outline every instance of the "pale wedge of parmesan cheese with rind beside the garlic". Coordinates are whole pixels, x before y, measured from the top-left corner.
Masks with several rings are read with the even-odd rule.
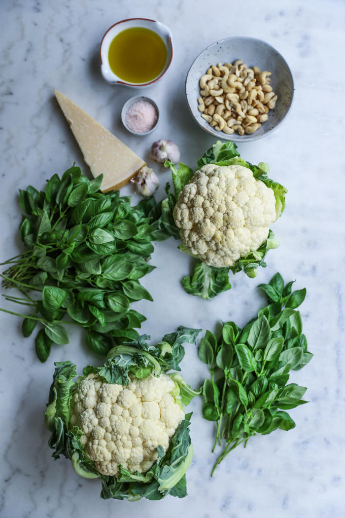
[[[103,175],[101,191],[121,189],[145,162],[65,95],[54,93],[93,176]]]

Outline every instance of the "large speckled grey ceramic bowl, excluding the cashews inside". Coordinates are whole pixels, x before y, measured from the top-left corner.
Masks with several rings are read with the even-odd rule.
[[[200,96],[199,80],[211,65],[217,63],[233,63],[242,60],[248,67],[257,66],[261,70],[272,73],[271,86],[278,95],[276,106],[268,112],[268,120],[263,122],[259,130],[251,135],[228,135],[222,131],[216,131],[201,117],[198,110],[198,97]],[[247,142],[262,138],[272,133],[282,123],[290,111],[294,92],[291,70],[282,55],[265,41],[256,38],[234,36],[207,47],[199,54],[191,65],[186,79],[186,97],[190,112],[196,122],[211,135],[221,140],[233,142]]]

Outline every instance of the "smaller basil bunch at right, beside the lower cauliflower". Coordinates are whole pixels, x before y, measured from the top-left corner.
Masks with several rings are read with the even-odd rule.
[[[211,373],[202,387],[202,413],[217,425],[213,451],[223,444],[212,474],[249,437],[294,428],[286,410],[306,403],[306,387],[288,384],[290,370],[301,369],[313,356],[296,311],[306,290],[292,292],[292,284],[284,284],[277,273],[268,284],[259,285],[268,305],[256,319],[242,329],[225,322],[220,336],[206,331],[200,341],[199,358]]]

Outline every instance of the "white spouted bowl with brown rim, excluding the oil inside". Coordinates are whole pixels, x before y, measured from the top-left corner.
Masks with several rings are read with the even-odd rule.
[[[164,44],[167,48],[167,61],[166,64],[156,78],[154,78],[152,81],[148,81],[145,83],[131,83],[126,82],[123,79],[117,77],[113,71],[110,68],[109,65],[109,47],[112,42],[112,40],[115,38],[115,36],[124,31],[125,29],[131,28],[131,27],[144,27],[147,29],[151,29],[151,31],[154,31],[156,34],[158,34],[162,40],[164,41]],[[103,78],[108,81],[108,83],[111,84],[123,84],[128,87],[133,88],[140,88],[140,87],[147,87],[150,84],[154,84],[157,81],[159,81],[164,74],[166,74],[166,71],[171,65],[172,57],[173,57],[173,46],[172,46],[172,35],[170,29],[163,25],[160,22],[157,22],[156,20],[149,20],[147,18],[129,18],[128,20],[122,20],[121,22],[117,22],[114,25],[112,25],[106,34],[104,34],[101,45],[100,45],[100,65],[101,65],[101,73]]]

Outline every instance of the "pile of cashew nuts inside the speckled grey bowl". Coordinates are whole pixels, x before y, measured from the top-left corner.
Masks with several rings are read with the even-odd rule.
[[[268,76],[271,72],[248,68],[242,60],[212,65],[199,81],[201,117],[228,135],[251,135],[276,105],[277,95]]]

